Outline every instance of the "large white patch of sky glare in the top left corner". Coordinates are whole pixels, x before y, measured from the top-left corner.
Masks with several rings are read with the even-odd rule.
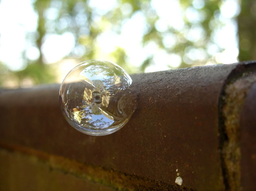
[[[26,45],[26,33],[36,30],[37,18],[30,0],[0,1],[0,60],[9,69],[24,69],[22,52]]]

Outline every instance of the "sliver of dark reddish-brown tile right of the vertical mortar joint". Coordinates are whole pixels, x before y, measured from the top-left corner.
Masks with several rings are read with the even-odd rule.
[[[241,187],[256,190],[256,83],[245,99],[241,113]]]

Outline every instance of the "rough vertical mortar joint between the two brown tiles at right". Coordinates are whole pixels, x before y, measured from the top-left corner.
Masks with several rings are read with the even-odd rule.
[[[238,72],[239,70],[239,72]],[[220,134],[224,139],[220,142],[221,159],[226,189],[241,190],[240,173],[240,114],[244,101],[252,84],[256,82],[256,66],[239,66],[232,71],[224,84],[220,97]]]

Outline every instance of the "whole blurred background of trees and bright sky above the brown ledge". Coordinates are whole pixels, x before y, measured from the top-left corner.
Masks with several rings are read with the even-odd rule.
[[[130,74],[256,60],[255,31],[255,0],[0,0],[0,87],[89,59]]]

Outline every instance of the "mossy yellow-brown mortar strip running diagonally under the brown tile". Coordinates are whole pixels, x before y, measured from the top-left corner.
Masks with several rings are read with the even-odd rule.
[[[167,184],[161,180],[151,180],[138,175],[129,175],[115,170],[107,170],[103,167],[94,167],[92,165],[83,164],[76,160],[67,159],[61,156],[48,154],[43,151],[22,147],[20,145],[9,145],[0,143],[4,149],[0,149],[3,154],[8,151],[14,152],[16,155],[26,154],[29,160],[46,163],[51,170],[59,170],[65,174],[72,174],[84,180],[100,183],[115,190],[128,191],[193,191],[183,186],[174,186]]]

